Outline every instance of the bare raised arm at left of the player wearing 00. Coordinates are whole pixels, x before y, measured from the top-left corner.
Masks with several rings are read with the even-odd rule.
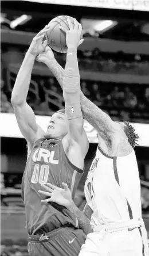
[[[11,94],[11,104],[13,105],[15,116],[17,118],[19,129],[29,145],[33,145],[38,139],[38,135],[44,134],[44,131],[36,124],[36,119],[32,108],[27,104],[30,79],[34,60],[36,56],[44,51],[47,41],[42,44],[42,39],[49,27],[45,26],[33,39],[25,59],[19,69],[17,79]]]

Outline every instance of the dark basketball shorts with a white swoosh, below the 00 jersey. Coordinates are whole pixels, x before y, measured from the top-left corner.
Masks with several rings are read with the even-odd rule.
[[[30,256],[78,256],[87,236],[73,227],[57,228],[41,235],[29,235]]]

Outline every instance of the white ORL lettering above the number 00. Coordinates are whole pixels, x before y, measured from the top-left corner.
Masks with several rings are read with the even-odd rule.
[[[36,163],[37,161],[44,161],[45,163],[53,163],[58,165],[58,160],[54,160],[55,151],[49,151],[45,148],[37,148],[32,156],[32,160]]]

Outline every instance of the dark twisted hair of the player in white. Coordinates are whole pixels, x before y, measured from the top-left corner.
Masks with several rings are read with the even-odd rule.
[[[135,133],[135,128],[132,127],[130,122],[128,121],[123,121],[123,123],[126,125],[124,128],[124,132],[126,133],[126,136],[128,138],[128,142],[131,144],[133,148],[135,148],[136,145],[139,145],[138,140],[140,139],[138,134]]]

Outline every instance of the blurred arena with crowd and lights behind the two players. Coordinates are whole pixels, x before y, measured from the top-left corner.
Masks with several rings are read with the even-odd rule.
[[[78,49],[83,93],[112,120],[129,120],[139,133],[135,152],[143,219],[149,232],[149,1],[1,1],[1,255],[28,255],[21,200],[26,142],[14,117],[11,91],[34,35],[59,15],[75,17],[83,25],[85,40]],[[54,55],[64,67],[65,54]],[[43,128],[49,116],[64,106],[58,82],[42,63],[34,64],[28,103]],[[97,147],[95,129],[88,123],[84,127],[90,144],[76,195],[80,209]]]

